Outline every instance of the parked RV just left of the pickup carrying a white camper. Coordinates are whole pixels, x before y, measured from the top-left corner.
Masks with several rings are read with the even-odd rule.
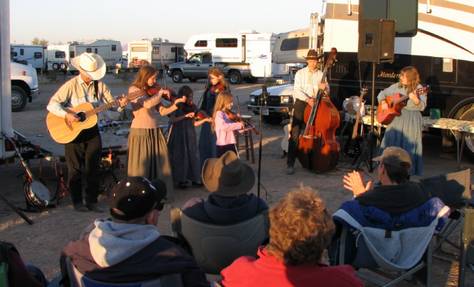
[[[128,67],[138,69],[144,64],[151,64],[159,70],[184,60],[183,44],[168,40],[139,40],[128,43]]]

